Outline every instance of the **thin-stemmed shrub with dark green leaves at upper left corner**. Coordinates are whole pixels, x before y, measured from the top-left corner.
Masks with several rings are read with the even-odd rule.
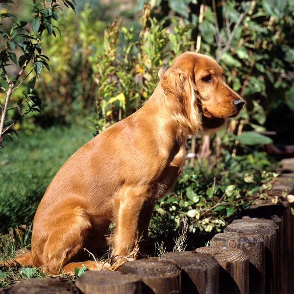
[[[4,0],[4,3],[15,4],[12,0]],[[40,112],[40,105],[42,100],[35,94],[34,87],[36,84],[36,79],[40,77],[40,73],[44,68],[49,70],[49,58],[48,56],[42,54],[42,48],[40,42],[42,40],[43,32],[47,32],[49,35],[56,37],[56,31],[59,31],[58,27],[52,24],[55,20],[58,20],[58,11],[62,10],[61,3],[65,6],[71,7],[74,10],[74,1],[72,0],[51,0],[51,1],[37,1],[33,0],[33,16],[34,20],[31,23],[32,34],[26,29],[27,22],[20,21],[17,17],[11,13],[0,14],[0,20],[4,18],[10,18],[12,20],[12,25],[7,25],[1,23],[2,26],[8,26],[1,32],[1,38],[5,40],[5,44],[0,46],[5,46],[5,49],[0,52],[0,76],[5,81],[5,85],[1,86],[1,90],[6,93],[6,98],[4,105],[0,104],[1,109],[1,121],[0,121],[0,148],[2,146],[3,135],[11,135],[17,132],[12,128],[12,126],[24,118],[29,112]],[[23,55],[17,58],[15,54],[16,49],[21,49]],[[19,67],[18,73],[11,77],[7,67],[14,63]],[[30,69],[29,69],[30,68]],[[28,73],[25,73],[29,69]],[[13,92],[17,90],[23,82],[34,72],[35,76],[30,78],[27,83],[27,90],[24,93],[24,98],[17,101],[16,106],[10,106],[11,96]],[[24,76],[23,76],[24,75]],[[19,81],[21,79],[21,81]],[[24,106],[27,109],[23,109]],[[9,110],[17,109],[19,111],[18,116],[14,120],[6,120],[7,112]]]

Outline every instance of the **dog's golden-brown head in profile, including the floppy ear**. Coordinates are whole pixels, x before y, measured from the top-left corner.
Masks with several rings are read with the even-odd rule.
[[[159,75],[167,103],[177,110],[176,119],[191,133],[221,127],[226,118],[236,117],[245,104],[225,84],[221,66],[209,56],[185,52]]]

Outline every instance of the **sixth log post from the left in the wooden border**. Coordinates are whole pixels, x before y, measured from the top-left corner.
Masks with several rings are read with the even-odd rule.
[[[210,245],[243,250],[249,258],[249,293],[265,293],[265,242],[261,235],[222,233],[215,235]]]

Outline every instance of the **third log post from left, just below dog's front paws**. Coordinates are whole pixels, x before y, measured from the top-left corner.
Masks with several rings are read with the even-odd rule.
[[[181,270],[172,262],[162,259],[135,260],[125,263],[120,271],[139,277],[143,281],[144,294],[181,293]]]

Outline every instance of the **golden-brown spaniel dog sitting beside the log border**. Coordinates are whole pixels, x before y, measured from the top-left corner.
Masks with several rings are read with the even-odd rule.
[[[221,127],[244,100],[222,79],[211,57],[175,58],[147,103],[77,150],[50,183],[34,218],[32,249],[12,262],[56,273],[95,261],[83,248],[101,247],[116,223],[112,256],[128,255],[146,237],[157,199],[173,186],[185,161],[189,134]],[[9,262],[8,262],[9,263]]]

